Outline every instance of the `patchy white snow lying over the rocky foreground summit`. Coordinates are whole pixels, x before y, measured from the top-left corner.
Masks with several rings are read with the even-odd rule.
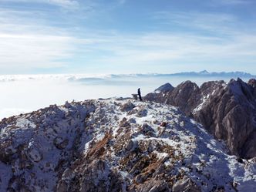
[[[203,103],[208,97],[205,97]],[[120,110],[128,102],[135,105],[133,113]],[[143,110],[147,113],[140,116],[138,112]],[[163,147],[171,147],[174,150],[173,157],[180,160],[157,150],[153,150],[153,153],[157,154],[158,159],[164,160],[165,166],[174,165],[177,172],[183,170],[202,191],[210,191],[215,185],[223,186],[225,191],[235,191],[231,185],[237,186],[238,191],[255,190],[256,164],[253,160],[237,162],[237,157],[226,153],[224,143],[214,140],[199,123],[184,116],[179,109],[159,103],[113,98],[50,106],[34,115],[12,117],[12,123],[8,125],[2,123],[0,142],[3,143],[6,138],[12,140],[8,149],[13,153],[21,143],[27,143],[24,150],[34,166],[32,170],[21,170],[19,159],[16,159],[14,174],[25,175],[36,191],[50,191],[58,180],[55,168],[61,158],[67,160],[71,156],[72,143],[78,133],[78,150],[86,155],[92,143],[103,140],[106,133],[112,134],[113,142],[116,142],[115,138],[123,136],[125,133],[121,131],[120,122],[124,118],[131,122],[133,145],[151,143],[154,146],[159,143]],[[163,122],[166,126],[160,126]],[[143,133],[143,126],[150,129],[150,134]],[[54,142],[65,139],[68,140],[65,150],[56,148]],[[118,170],[118,162],[123,157],[123,153],[117,154],[114,151],[109,151],[109,154],[112,161],[108,162],[109,168],[100,172],[102,178],[107,177],[108,169],[115,167]],[[0,170],[0,190],[5,191],[12,177],[11,166],[0,162]],[[31,177],[31,171],[36,177]],[[132,178],[126,170],[118,171],[122,177]]]

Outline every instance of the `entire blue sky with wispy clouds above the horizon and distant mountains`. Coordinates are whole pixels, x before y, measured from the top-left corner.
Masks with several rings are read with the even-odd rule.
[[[0,0],[0,74],[255,74],[255,10],[255,0]]]

